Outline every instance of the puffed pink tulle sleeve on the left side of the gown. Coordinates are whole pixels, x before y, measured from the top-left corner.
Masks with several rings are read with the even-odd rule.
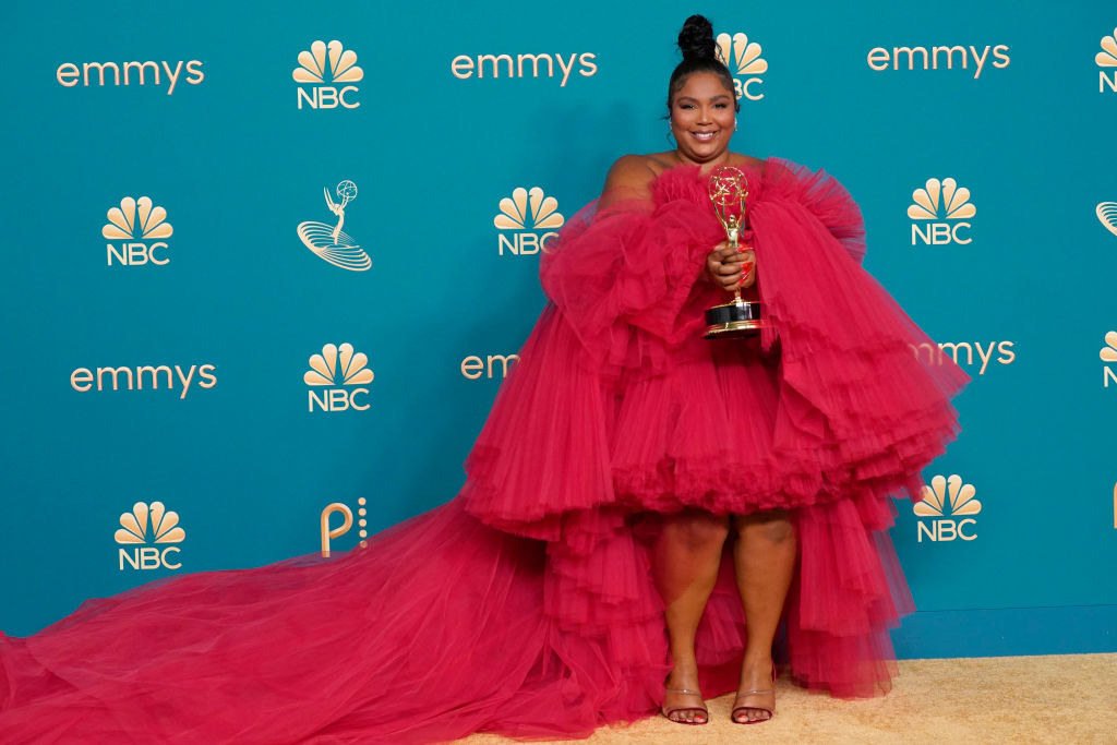
[[[470,512],[532,537],[557,539],[564,513],[614,503],[612,392],[626,369],[663,370],[700,332],[705,258],[724,239],[690,200],[598,204],[543,256],[551,302],[466,462]]]

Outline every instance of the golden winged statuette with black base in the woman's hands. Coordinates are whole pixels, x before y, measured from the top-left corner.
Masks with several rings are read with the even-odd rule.
[[[725,228],[729,246],[741,250],[741,229],[745,227],[745,200],[748,198],[748,181],[741,169],[723,165],[709,178],[709,199],[714,212]],[[750,269],[745,265],[745,271]],[[739,338],[754,336],[764,325],[761,321],[761,304],[741,298],[741,285],[733,290],[733,302],[715,305],[706,309],[706,338]]]

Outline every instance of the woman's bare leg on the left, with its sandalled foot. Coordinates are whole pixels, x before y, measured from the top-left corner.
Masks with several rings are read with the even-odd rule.
[[[729,534],[727,517],[688,509],[663,519],[652,563],[656,586],[667,604],[667,634],[674,668],[667,687],[698,690],[695,633],[717,580],[722,547]],[[701,706],[700,696],[666,694],[663,708]],[[701,713],[679,713],[676,722],[705,722]]]

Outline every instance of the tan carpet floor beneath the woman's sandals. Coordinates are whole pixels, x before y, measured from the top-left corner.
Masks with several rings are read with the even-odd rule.
[[[879,698],[837,700],[782,678],[775,718],[764,724],[731,723],[733,697],[723,696],[707,701],[712,720],[701,727],[652,717],[573,742],[1117,743],[1117,653],[901,660],[899,668],[895,688]],[[458,741],[512,742],[495,735]]]

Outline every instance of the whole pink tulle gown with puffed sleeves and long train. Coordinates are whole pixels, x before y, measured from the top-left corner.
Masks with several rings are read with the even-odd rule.
[[[727,294],[696,166],[591,204],[543,259],[552,303],[442,507],[367,548],[208,572],[0,634],[4,743],[373,743],[589,735],[655,713],[669,669],[657,517],[791,508],[780,659],[836,696],[887,689],[910,598],[890,496],[957,431],[954,366],[860,267],[858,209],[822,173],[747,169],[753,342],[701,338]],[[747,629],[726,561],[699,629],[731,691]]]

